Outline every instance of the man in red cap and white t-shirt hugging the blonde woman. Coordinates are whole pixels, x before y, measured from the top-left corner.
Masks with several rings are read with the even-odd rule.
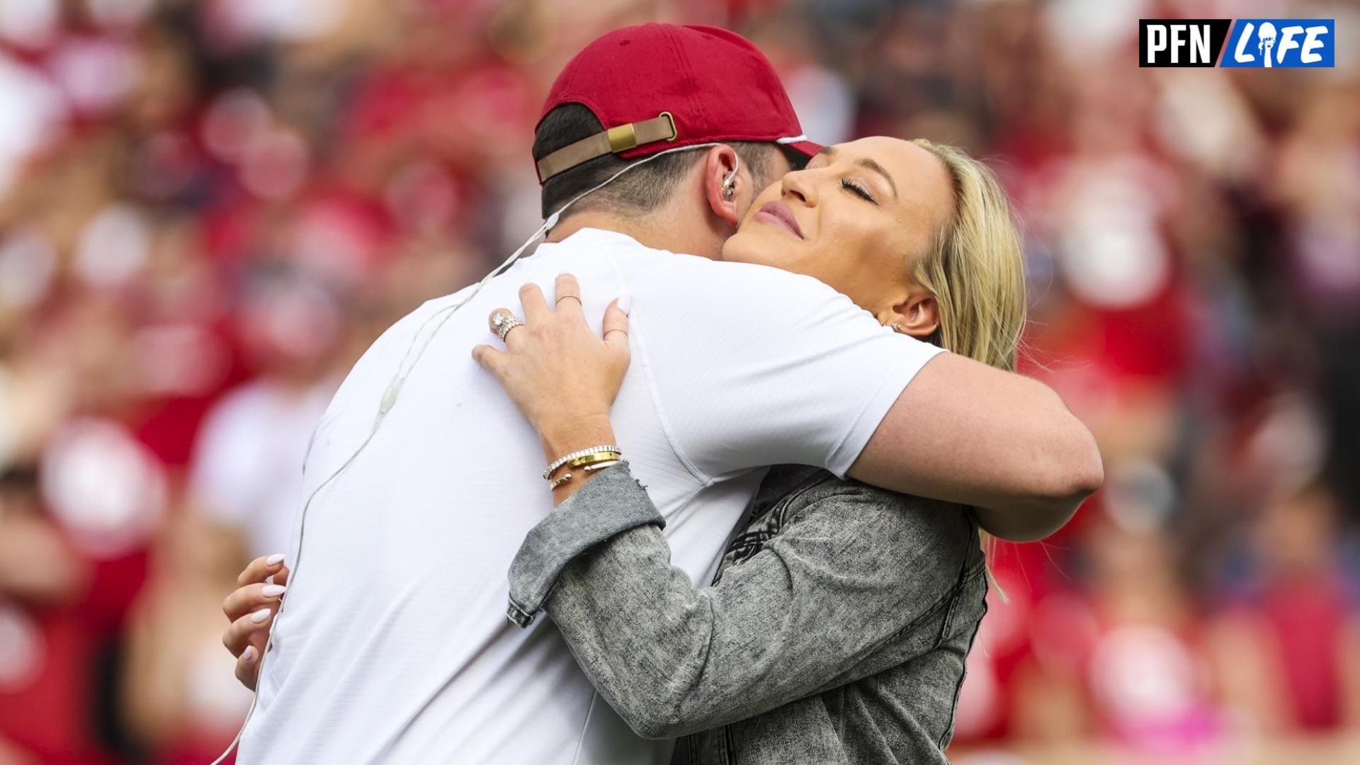
[[[616,295],[631,308],[613,429],[695,581],[710,579],[770,464],[1023,508],[1002,530],[1012,536],[1065,520],[1073,491],[1028,481],[1034,455],[1016,449],[1015,464],[974,476],[986,452],[957,437],[963,422],[1015,434],[1023,419],[1044,444],[1089,449],[1051,392],[885,331],[813,279],[711,260],[756,192],[817,150],[770,63],[733,33],[630,27],[567,65],[534,136],[548,242],[392,327],[313,437],[288,614],[241,762],[665,760],[669,746],[628,730],[551,623],[513,602],[505,619],[506,570],[552,510],[539,478],[552,470],[468,351],[494,309],[520,304],[520,284],[554,294],[571,272],[581,294],[559,301],[581,299],[590,317]],[[517,327],[498,324],[500,339]],[[926,408],[932,423],[913,417]],[[239,629],[271,618],[261,608]],[[249,651],[246,663],[260,660]]]

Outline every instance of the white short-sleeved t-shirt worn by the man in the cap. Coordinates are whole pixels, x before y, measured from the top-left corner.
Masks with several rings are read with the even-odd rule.
[[[669,760],[669,742],[635,736],[598,697],[551,619],[506,618],[510,559],[552,500],[537,437],[471,351],[495,340],[491,310],[518,313],[520,284],[552,299],[564,271],[596,331],[608,302],[631,295],[615,433],[666,517],[673,562],[700,584],[759,468],[845,475],[938,353],[812,278],[593,229],[541,245],[432,335],[466,291],[427,302],[374,343],[318,426],[303,497],[350,464],[313,500],[301,559],[294,543],[242,764]]]

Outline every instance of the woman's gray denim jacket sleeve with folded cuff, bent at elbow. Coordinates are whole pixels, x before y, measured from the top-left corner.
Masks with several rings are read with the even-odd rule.
[[[605,471],[555,515],[650,508],[646,491],[617,474],[626,471]],[[636,734],[679,736],[850,682],[857,663],[949,596],[967,546],[976,547],[957,505],[835,486],[786,502],[779,532],[711,588],[695,589],[670,566],[651,524],[573,544],[586,551],[562,568],[545,608]],[[959,521],[921,523],[929,512]],[[552,558],[536,546],[530,535],[517,565]],[[520,565],[511,579],[530,569]]]

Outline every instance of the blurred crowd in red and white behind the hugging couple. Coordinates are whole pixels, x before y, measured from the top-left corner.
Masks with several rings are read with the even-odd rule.
[[[1360,7],[1250,4],[1334,18],[1336,69],[1137,68],[1140,16],[1242,5],[0,1],[0,765],[231,740],[220,602],[286,551],[313,423],[533,231],[547,87],[645,20],[747,34],[813,139],[962,146],[1021,211],[1025,372],[1107,486],[993,554],[952,754],[1360,757]]]

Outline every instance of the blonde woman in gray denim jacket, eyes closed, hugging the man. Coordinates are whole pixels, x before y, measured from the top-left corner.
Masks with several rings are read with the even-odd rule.
[[[820,279],[884,332],[1015,366],[1025,316],[1020,241],[993,176],[955,148],[887,137],[830,147],[762,192],[724,259]],[[521,293],[539,319],[509,332],[507,351],[475,354],[539,430],[549,461],[615,444],[609,408],[630,362],[617,304],[600,338],[571,299],[575,279],[556,287],[555,309],[537,289]],[[545,610],[635,732],[683,736],[673,761],[685,764],[945,761],[986,610],[967,508],[775,467],[711,587],[695,588],[669,565],[664,520],[626,463],[570,472],[555,481],[556,510],[515,557],[510,615],[528,623]],[[253,583],[283,573],[279,562],[253,564],[228,618],[268,606]],[[253,659],[238,664],[243,679]]]

